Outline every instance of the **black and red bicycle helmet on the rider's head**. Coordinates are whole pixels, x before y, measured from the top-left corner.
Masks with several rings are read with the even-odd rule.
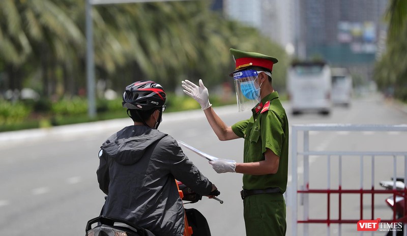
[[[127,109],[150,110],[162,107],[166,95],[162,86],[151,80],[136,81],[126,87],[122,105]]]

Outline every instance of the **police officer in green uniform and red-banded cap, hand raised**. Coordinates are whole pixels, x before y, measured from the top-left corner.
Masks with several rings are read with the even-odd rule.
[[[246,235],[285,235],[283,193],[288,173],[288,120],[278,93],[272,86],[274,57],[231,48],[236,62],[234,77],[239,111],[251,109],[248,120],[227,126],[212,109],[208,89],[182,81],[184,92],[200,105],[220,140],[244,138],[244,163],[210,161],[218,173],[243,173],[241,196]]]

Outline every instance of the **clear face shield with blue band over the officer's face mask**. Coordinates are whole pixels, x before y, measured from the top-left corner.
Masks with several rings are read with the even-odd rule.
[[[251,110],[260,100],[257,75],[261,71],[244,70],[233,74],[239,112]]]

